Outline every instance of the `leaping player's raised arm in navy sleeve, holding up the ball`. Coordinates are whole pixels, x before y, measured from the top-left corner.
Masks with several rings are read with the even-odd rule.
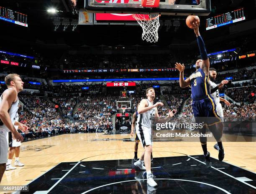
[[[202,39],[200,33],[199,33],[199,23],[197,23],[197,21],[195,23],[193,23],[193,29],[195,34],[197,35],[197,44],[200,50],[200,55],[202,58],[202,65],[204,68],[206,68],[207,71],[209,71],[210,68],[210,61],[206,52],[206,48],[205,48],[205,43],[204,40]]]

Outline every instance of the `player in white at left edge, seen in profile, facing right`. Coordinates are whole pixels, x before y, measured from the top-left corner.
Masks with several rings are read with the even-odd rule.
[[[17,141],[23,141],[23,137],[15,129],[15,116],[18,111],[18,93],[23,91],[23,81],[20,76],[11,73],[5,76],[5,84],[8,87],[0,97],[0,182],[6,169],[8,143],[7,133],[11,131]]]

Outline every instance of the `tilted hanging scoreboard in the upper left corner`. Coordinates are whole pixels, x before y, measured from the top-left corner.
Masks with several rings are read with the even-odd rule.
[[[28,15],[0,6],[0,20],[28,27]]]

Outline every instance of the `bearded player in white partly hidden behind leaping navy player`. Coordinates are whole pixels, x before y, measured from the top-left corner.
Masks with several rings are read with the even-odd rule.
[[[226,105],[230,105],[230,102],[225,100],[224,98],[220,97],[220,93],[219,93],[219,88],[221,88],[224,84],[228,83],[228,80],[223,80],[221,81],[221,83],[219,85],[217,85],[216,83],[214,83],[214,81],[216,80],[217,77],[217,71],[215,68],[210,68],[210,90],[211,90],[211,96],[214,98],[215,104],[216,104],[216,111],[218,116],[221,117],[221,120],[223,121],[223,109],[222,106],[220,104],[220,101],[223,101]]]

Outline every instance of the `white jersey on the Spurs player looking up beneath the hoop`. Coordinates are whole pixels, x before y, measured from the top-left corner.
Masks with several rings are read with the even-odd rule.
[[[153,106],[153,104],[148,100],[148,106]],[[146,128],[151,128],[151,121],[154,119],[156,114],[156,108],[151,108],[145,113],[138,114],[137,125],[144,126]]]

